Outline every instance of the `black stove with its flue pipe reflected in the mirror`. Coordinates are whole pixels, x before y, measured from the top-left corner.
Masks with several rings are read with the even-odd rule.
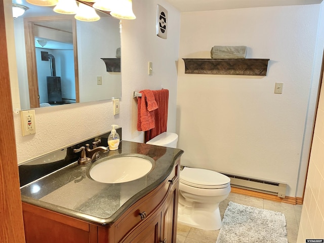
[[[52,54],[45,54],[50,60],[51,75],[47,79],[47,95],[50,104],[62,104],[61,77],[56,76],[55,57]]]

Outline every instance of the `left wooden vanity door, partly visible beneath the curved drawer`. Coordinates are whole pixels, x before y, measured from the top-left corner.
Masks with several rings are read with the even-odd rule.
[[[141,227],[134,230],[123,243],[159,243],[161,214],[157,213]]]

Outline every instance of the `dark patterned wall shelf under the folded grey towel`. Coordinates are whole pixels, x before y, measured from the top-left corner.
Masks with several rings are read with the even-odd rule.
[[[185,73],[266,76],[270,59],[182,58]]]

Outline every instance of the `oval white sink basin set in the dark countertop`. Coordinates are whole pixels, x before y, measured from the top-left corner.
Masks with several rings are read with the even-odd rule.
[[[99,159],[90,169],[90,177],[102,183],[123,183],[137,180],[153,168],[149,159],[139,156],[122,156]]]

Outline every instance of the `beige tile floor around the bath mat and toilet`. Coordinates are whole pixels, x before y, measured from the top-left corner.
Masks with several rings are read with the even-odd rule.
[[[231,192],[227,199],[219,205],[222,219],[229,201],[233,201],[237,204],[277,211],[285,214],[287,221],[288,242],[297,242],[302,205],[277,203],[275,201]],[[201,230],[190,226],[178,224],[177,243],[215,243],[218,236],[218,232],[219,230]]]

